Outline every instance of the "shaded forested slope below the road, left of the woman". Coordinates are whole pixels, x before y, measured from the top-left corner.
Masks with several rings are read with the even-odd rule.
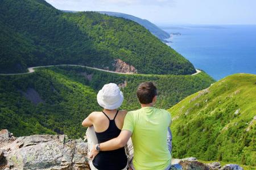
[[[97,104],[96,92],[49,70],[0,79],[0,129],[16,135],[84,135],[81,120]]]

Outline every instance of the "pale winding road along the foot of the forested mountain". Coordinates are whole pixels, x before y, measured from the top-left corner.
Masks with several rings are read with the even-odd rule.
[[[28,72],[27,73],[11,73],[11,74],[0,74],[0,75],[22,75],[22,74],[30,74],[30,73],[34,73],[35,69],[37,68],[42,68],[42,67],[54,67],[54,66],[79,66],[79,67],[86,67],[88,69],[93,69],[93,70],[99,70],[99,71],[105,71],[105,72],[109,72],[109,73],[115,73],[115,74],[133,74],[133,73],[118,73],[115,71],[109,71],[109,70],[104,70],[104,69],[97,69],[95,67],[88,67],[88,66],[82,66],[82,65],[49,65],[49,66],[37,66],[37,67],[28,67]],[[191,74],[191,75],[196,75],[201,73],[200,70],[196,69],[196,73]]]

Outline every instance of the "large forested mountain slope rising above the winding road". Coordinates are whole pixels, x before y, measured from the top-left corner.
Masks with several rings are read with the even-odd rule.
[[[115,59],[138,73],[195,73],[187,59],[138,23],[97,12],[63,12],[43,0],[1,0],[0,36],[0,73],[58,63],[115,70]]]

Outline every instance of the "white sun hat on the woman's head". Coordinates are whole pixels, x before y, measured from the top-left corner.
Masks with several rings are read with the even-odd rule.
[[[97,95],[98,104],[102,108],[113,110],[121,107],[123,93],[115,83],[105,84]]]

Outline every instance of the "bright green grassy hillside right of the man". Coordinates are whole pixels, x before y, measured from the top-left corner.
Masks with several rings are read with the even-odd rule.
[[[174,157],[256,165],[256,75],[230,75],[169,111]]]

